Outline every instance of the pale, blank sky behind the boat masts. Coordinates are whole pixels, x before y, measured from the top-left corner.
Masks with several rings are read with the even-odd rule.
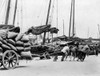
[[[53,7],[54,3],[54,7]],[[11,0],[9,24],[12,24],[15,0]],[[31,26],[45,25],[49,0],[18,0],[15,26],[26,31]],[[4,23],[7,0],[0,0],[0,24]],[[58,35],[68,36],[71,0],[52,0],[50,22],[52,27],[60,30]],[[99,38],[98,24],[100,24],[100,0],[75,0],[75,33],[77,37]]]

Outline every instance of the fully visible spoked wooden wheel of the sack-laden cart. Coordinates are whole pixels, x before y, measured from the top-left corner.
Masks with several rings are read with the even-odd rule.
[[[13,69],[18,64],[18,55],[13,50],[7,50],[2,57],[2,63],[5,69]]]

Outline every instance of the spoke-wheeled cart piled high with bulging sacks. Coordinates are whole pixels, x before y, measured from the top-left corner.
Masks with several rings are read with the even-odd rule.
[[[31,45],[24,34],[0,30],[0,67],[15,68],[19,59],[32,59]]]

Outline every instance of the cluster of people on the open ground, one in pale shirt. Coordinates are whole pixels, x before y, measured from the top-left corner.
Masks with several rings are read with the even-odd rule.
[[[61,46],[60,46],[61,47]],[[93,51],[94,55],[98,55],[99,51],[97,47],[94,49],[91,49],[91,46],[88,44],[82,44],[76,42],[75,44],[71,45],[64,45],[59,52],[61,54],[61,61],[67,60],[67,58],[70,58],[71,60],[77,60],[77,61],[84,61],[86,56],[88,56],[91,53],[91,50]],[[56,54],[54,57],[54,61],[57,61],[59,54]]]

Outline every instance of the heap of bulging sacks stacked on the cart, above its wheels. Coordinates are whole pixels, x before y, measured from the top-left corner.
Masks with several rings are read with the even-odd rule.
[[[28,36],[22,33],[0,30],[0,52],[14,50],[18,54],[30,51]]]

